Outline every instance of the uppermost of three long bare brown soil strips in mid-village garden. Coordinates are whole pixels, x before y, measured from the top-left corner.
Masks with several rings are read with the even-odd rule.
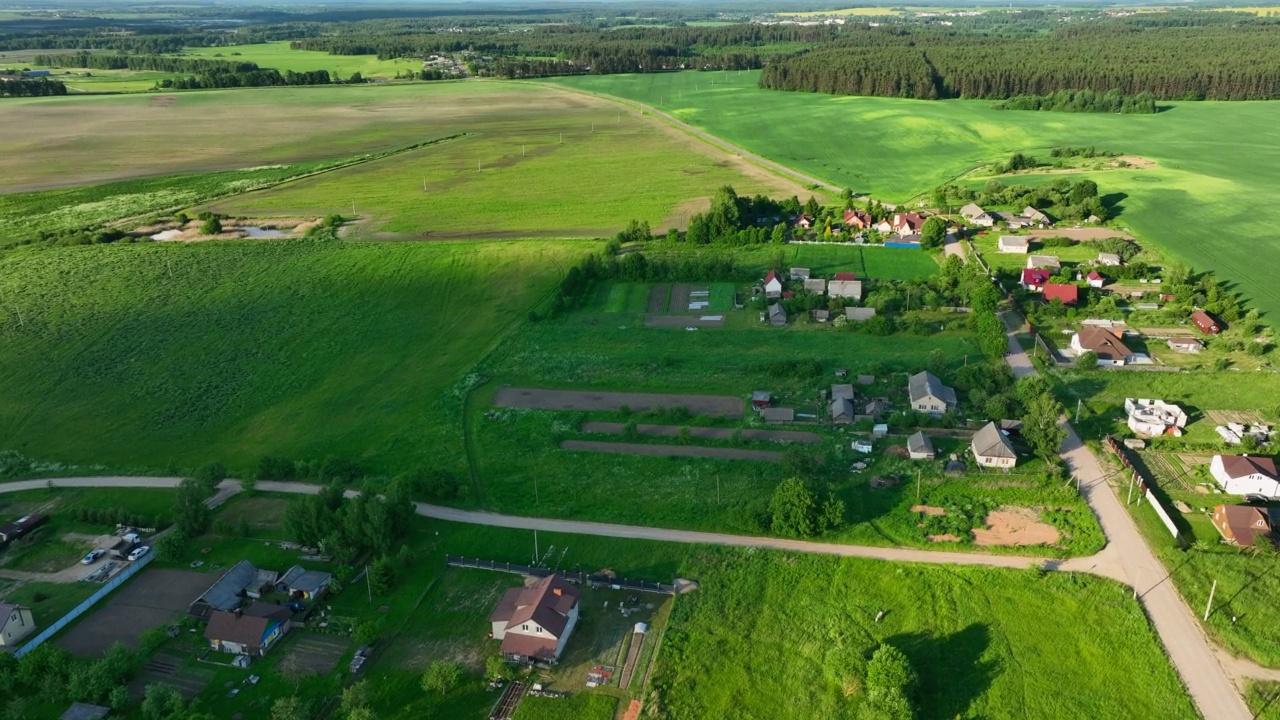
[[[504,387],[494,395],[495,407],[531,410],[621,410],[637,413],[654,407],[684,407],[694,415],[742,416],[742,398],[728,395],[667,395],[652,392],[594,392]]]

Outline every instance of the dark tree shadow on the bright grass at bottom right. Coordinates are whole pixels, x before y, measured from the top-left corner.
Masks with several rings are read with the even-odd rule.
[[[905,633],[884,642],[905,652],[920,676],[915,697],[920,720],[965,716],[1000,673],[996,662],[982,657],[991,646],[986,624],[974,623],[943,637]]]

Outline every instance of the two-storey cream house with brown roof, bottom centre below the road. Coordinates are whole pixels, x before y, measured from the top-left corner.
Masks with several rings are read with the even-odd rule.
[[[558,574],[511,588],[489,616],[494,639],[511,662],[553,664],[577,625],[581,592]]]

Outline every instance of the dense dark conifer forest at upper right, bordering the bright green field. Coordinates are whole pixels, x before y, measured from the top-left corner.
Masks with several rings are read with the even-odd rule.
[[[849,28],[771,60],[760,86],[837,95],[1007,99],[1091,90],[1155,100],[1280,97],[1280,26],[1144,29],[1098,24],[1053,37]]]

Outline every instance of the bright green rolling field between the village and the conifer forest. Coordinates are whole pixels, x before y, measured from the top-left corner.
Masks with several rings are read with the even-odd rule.
[[[1277,102],[1175,102],[1156,115],[996,110],[980,100],[900,100],[781,92],[755,72],[654,73],[556,82],[658,106],[771,160],[858,192],[902,201],[1012,152],[1062,145],[1138,155],[1144,170],[1092,173],[1120,225],[1239,283],[1280,314],[1271,240],[1280,209]]]

